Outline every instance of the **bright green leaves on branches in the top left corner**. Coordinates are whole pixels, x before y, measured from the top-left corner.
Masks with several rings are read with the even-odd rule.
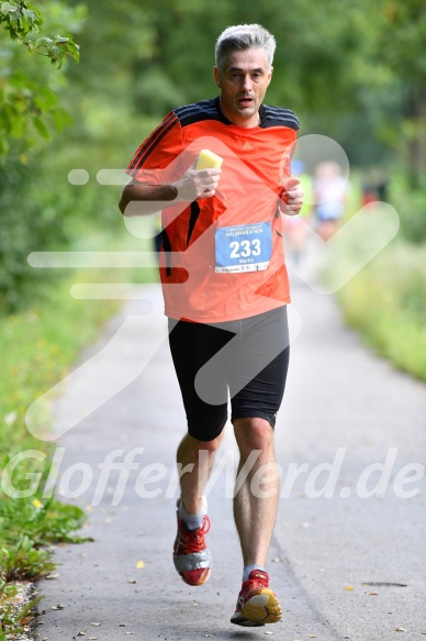
[[[53,2],[42,14],[36,7],[21,0],[0,2],[0,161],[10,155],[22,155],[41,140],[49,139],[49,130],[61,131],[70,118],[59,104],[60,80],[57,71],[44,64],[48,58],[60,68],[68,58],[79,59],[79,46],[71,35],[49,37],[40,34],[42,27],[60,29],[58,9],[68,29],[78,31],[83,10],[67,9]],[[9,40],[7,37],[9,32]],[[29,53],[34,54],[29,56]]]

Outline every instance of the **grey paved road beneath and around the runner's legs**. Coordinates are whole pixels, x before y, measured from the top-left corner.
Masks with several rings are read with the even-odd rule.
[[[36,639],[425,639],[426,484],[412,464],[425,462],[426,386],[362,346],[330,297],[293,284],[291,371],[277,426],[282,496],[268,562],[283,620],[240,629],[229,623],[242,571],[229,426],[209,493],[212,577],[189,588],[172,567],[184,416],[160,294],[150,286],[143,296],[152,313],[147,303],[126,305],[57,406],[58,432],[76,410],[88,415],[58,439],[58,473],[61,491],[87,509],[83,533],[94,541],[57,549],[59,576],[40,585]],[[117,467],[127,456],[124,469],[102,467],[109,455]],[[388,483],[369,467],[386,458]]]

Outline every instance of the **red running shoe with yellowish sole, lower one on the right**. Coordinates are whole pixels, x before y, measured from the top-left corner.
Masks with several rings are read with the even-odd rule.
[[[237,626],[257,627],[280,621],[280,603],[277,595],[268,586],[268,573],[253,570],[248,581],[243,582],[237,607],[231,622]]]

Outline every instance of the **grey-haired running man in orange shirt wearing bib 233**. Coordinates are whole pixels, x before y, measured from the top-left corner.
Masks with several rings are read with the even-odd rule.
[[[188,420],[177,452],[186,473],[175,566],[192,586],[210,576],[203,490],[229,393],[238,472],[248,468],[234,499],[244,570],[231,621],[247,627],[281,618],[265,565],[279,497],[273,429],[289,362],[283,215],[298,214],[303,198],[290,176],[298,119],[262,103],[274,48],[258,24],[226,29],[213,69],[220,96],[165,118],[136,151],[120,201],[125,215],[162,211],[160,277]],[[218,155],[222,168],[197,169],[202,150]]]

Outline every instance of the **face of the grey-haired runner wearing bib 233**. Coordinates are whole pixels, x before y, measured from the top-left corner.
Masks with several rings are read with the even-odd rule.
[[[265,49],[231,52],[221,71],[214,67],[213,74],[221,89],[221,108],[226,118],[239,126],[256,126],[259,107],[272,75]]]

